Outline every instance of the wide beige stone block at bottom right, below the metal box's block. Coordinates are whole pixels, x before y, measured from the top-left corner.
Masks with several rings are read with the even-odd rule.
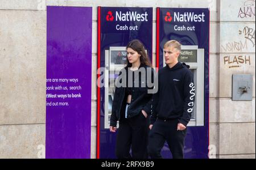
[[[255,154],[255,122],[220,124],[220,155]]]

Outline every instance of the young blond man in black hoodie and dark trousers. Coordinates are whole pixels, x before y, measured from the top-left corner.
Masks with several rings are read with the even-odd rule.
[[[160,151],[167,141],[173,158],[184,158],[186,126],[193,111],[195,86],[193,74],[178,57],[181,44],[175,40],[164,44],[166,66],[158,72],[158,92],[153,95],[148,154],[162,158]]]

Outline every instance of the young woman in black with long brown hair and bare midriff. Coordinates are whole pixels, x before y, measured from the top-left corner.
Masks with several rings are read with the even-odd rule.
[[[126,50],[127,65],[121,70],[118,78],[120,82],[126,80],[126,86],[115,87],[110,131],[117,131],[119,121],[115,146],[117,158],[143,159],[148,158],[148,126],[152,100],[152,94],[148,92],[152,87],[148,87],[148,82],[153,81],[154,69],[151,68],[141,41],[130,41]]]

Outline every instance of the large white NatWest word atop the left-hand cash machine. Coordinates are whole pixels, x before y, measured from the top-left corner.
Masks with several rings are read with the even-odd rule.
[[[115,12],[116,21],[137,21],[137,22],[147,22],[147,11],[144,14],[139,14],[137,11],[127,11],[122,13],[122,11]]]

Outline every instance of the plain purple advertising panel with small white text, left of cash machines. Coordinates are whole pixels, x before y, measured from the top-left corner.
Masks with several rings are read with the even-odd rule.
[[[46,158],[90,158],[92,7],[47,6]]]

